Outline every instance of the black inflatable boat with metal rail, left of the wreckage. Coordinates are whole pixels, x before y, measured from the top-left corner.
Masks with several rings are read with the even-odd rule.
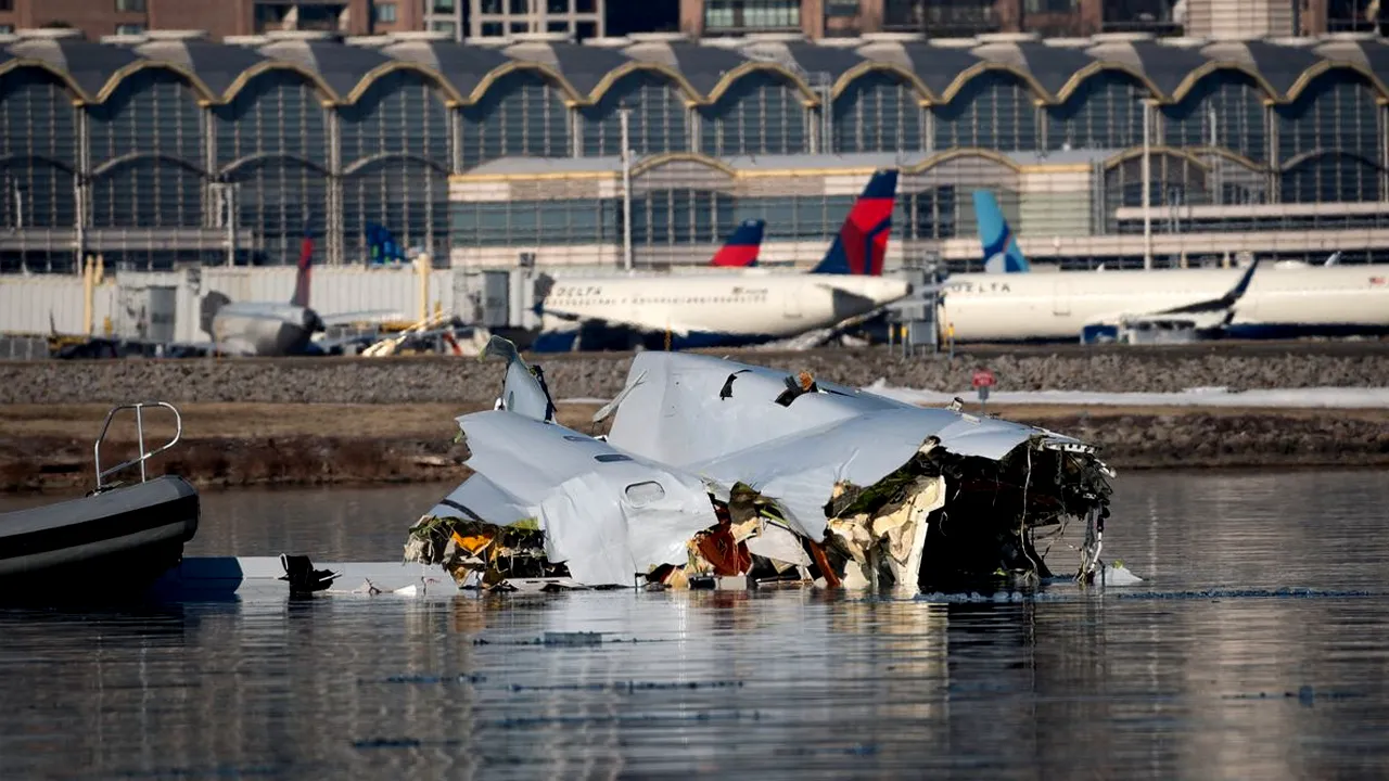
[[[144,409],[174,413],[167,445],[144,450]],[[101,442],[119,410],[135,410],[140,454],[101,471]],[[96,443],[97,486],[81,498],[0,514],[0,603],[104,602],[142,595],[183,557],[197,532],[197,489],[178,475],[147,478],[146,461],[182,435],[178,410],[164,402],[122,404],[107,413]],[[106,478],[139,464],[140,481]]]

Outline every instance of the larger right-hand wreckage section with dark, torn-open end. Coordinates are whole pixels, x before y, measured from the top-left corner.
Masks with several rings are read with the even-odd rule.
[[[1093,575],[1113,472],[1083,442],[708,356],[642,353],[629,377],[636,379],[622,390],[611,445],[690,470],[724,500],[735,482],[757,491],[793,531],[832,543],[839,556],[829,568],[839,577],[853,575],[856,545],[868,584],[876,573],[910,577],[908,560],[921,563],[922,582],[1000,570],[1047,577],[1033,534],[1076,518],[1092,529],[1079,575]],[[920,507],[920,492],[936,478],[945,502],[899,524],[921,538],[907,559],[886,568],[868,563],[868,552],[892,536],[872,531],[879,518]],[[833,524],[856,514],[865,535],[857,543],[840,534],[860,538],[853,523],[838,524],[840,531]],[[900,539],[889,548],[903,552]]]

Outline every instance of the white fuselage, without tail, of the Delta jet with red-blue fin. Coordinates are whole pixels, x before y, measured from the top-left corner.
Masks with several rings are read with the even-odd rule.
[[[542,304],[535,350],[564,346],[564,321],[646,334],[672,347],[736,346],[828,328],[910,293],[907,282],[846,274],[751,272],[560,281]],[[572,338],[571,338],[572,339]]]

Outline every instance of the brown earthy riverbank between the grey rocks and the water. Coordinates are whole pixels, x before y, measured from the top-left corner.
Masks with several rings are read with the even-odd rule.
[[[207,488],[458,482],[468,474],[467,450],[453,442],[453,418],[490,406],[185,403],[183,439],[151,470]],[[601,434],[589,422],[596,410],[560,404],[560,422]],[[0,491],[90,488],[92,443],[106,411],[107,404],[0,406]],[[989,411],[1099,445],[1118,470],[1389,467],[1389,410],[990,404]],[[144,428],[150,446],[172,434],[158,411]],[[133,422],[113,422],[103,466],[133,454]]]

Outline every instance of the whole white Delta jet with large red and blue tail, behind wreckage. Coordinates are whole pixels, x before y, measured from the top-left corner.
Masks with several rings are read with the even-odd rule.
[[[539,304],[549,322],[531,349],[658,346],[667,334],[672,349],[756,345],[831,327],[903,299],[911,286],[882,277],[896,190],[897,171],[876,171],[829,252],[808,274],[745,270],[557,281]],[[575,327],[561,331],[557,321]]]

